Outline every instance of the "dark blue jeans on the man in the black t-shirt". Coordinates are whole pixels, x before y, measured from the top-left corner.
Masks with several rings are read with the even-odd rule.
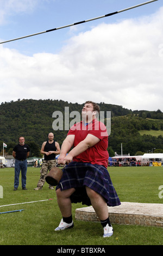
[[[22,174],[22,188],[23,188],[23,187],[26,187],[27,160],[24,160],[24,161],[15,160],[15,180],[14,180],[15,188],[18,188],[20,171]]]

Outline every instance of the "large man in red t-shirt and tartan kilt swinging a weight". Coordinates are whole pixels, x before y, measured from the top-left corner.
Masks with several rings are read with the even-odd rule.
[[[85,102],[83,121],[71,127],[62,143],[58,163],[67,165],[56,187],[62,220],[55,231],[73,227],[71,204],[82,202],[93,206],[104,228],[103,237],[113,234],[108,206],[117,206],[121,202],[107,170],[108,133],[105,125],[97,121],[97,114],[98,105]]]

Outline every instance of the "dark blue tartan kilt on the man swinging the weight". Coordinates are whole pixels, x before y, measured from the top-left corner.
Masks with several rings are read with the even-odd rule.
[[[76,188],[71,196],[72,203],[90,206],[91,202],[86,194],[85,186],[101,194],[108,206],[118,206],[120,199],[115,191],[108,170],[104,166],[83,162],[71,162],[63,169],[63,175],[56,190]]]

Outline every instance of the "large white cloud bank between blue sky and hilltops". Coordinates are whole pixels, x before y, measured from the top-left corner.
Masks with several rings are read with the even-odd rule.
[[[101,25],[69,40],[59,54],[24,56],[0,47],[0,102],[17,99],[85,100],[163,111],[162,20]]]

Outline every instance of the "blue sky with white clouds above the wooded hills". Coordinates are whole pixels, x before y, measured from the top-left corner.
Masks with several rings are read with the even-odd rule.
[[[143,0],[0,0],[0,42]],[[0,44],[0,104],[86,100],[163,112],[163,2]]]

